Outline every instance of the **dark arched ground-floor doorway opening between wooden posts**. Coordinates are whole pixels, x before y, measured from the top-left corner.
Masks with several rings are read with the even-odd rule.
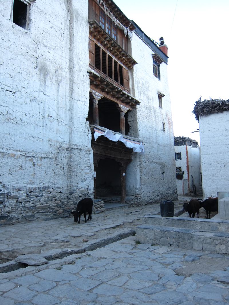
[[[96,169],[96,196],[121,196],[119,164],[112,159],[98,162]]]

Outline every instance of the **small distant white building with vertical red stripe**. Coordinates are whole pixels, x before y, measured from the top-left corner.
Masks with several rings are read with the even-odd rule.
[[[174,148],[177,193],[196,196],[201,184],[198,142],[191,138],[174,137]]]

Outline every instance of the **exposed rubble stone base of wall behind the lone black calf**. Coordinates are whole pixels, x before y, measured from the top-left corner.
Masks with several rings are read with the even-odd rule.
[[[79,200],[93,197],[87,188],[69,191],[34,187],[33,190],[0,193],[0,226],[56,217],[70,217]]]

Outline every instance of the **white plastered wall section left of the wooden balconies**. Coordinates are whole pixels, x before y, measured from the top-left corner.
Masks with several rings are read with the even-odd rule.
[[[12,22],[12,7],[0,5],[0,192],[92,192],[88,2],[32,2],[28,30]]]

